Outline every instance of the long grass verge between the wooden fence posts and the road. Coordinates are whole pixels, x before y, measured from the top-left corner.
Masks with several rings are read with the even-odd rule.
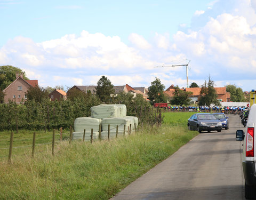
[[[109,199],[198,134],[187,130],[183,113],[171,116],[180,125],[168,123],[168,115],[161,127],[128,137],[92,144],[63,141],[54,156],[49,145],[43,151],[36,147],[34,159],[27,149],[14,154],[12,164],[2,160],[0,199]]]

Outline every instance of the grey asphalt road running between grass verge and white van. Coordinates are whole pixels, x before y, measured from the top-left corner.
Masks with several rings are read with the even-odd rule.
[[[245,128],[239,116],[229,120],[229,130],[199,134],[111,199],[245,199],[242,142],[235,140]]]

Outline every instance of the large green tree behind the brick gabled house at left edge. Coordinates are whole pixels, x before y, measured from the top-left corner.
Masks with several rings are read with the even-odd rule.
[[[10,65],[0,66],[0,90],[4,90],[16,79],[16,73],[23,74],[23,79],[28,80],[22,69]]]

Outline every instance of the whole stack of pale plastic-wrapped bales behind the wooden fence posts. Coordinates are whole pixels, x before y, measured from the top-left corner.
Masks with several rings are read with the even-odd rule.
[[[75,132],[73,133],[73,139],[82,139],[83,130],[91,133],[91,129],[94,130],[93,135],[99,135],[99,125],[101,124],[102,132],[101,139],[108,138],[108,125],[110,125],[110,137],[116,137],[116,126],[118,125],[118,136],[128,134],[131,124],[131,131],[134,130],[135,125],[138,126],[138,118],[132,116],[126,116],[126,106],[120,104],[114,105],[99,105],[91,107],[91,117],[79,117],[75,120]],[[125,125],[125,130],[124,130]],[[95,131],[97,130],[97,131]],[[90,139],[91,134],[88,135]],[[97,136],[96,136],[97,137]],[[86,140],[87,138],[85,138]],[[94,139],[94,136],[93,136]]]

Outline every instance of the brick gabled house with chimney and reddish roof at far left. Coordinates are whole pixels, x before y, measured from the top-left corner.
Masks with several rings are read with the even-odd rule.
[[[16,103],[22,103],[27,100],[26,92],[30,87],[35,87],[38,85],[37,80],[25,80],[23,79],[23,74],[17,73],[16,79],[3,90],[4,102],[8,103],[9,100]]]

